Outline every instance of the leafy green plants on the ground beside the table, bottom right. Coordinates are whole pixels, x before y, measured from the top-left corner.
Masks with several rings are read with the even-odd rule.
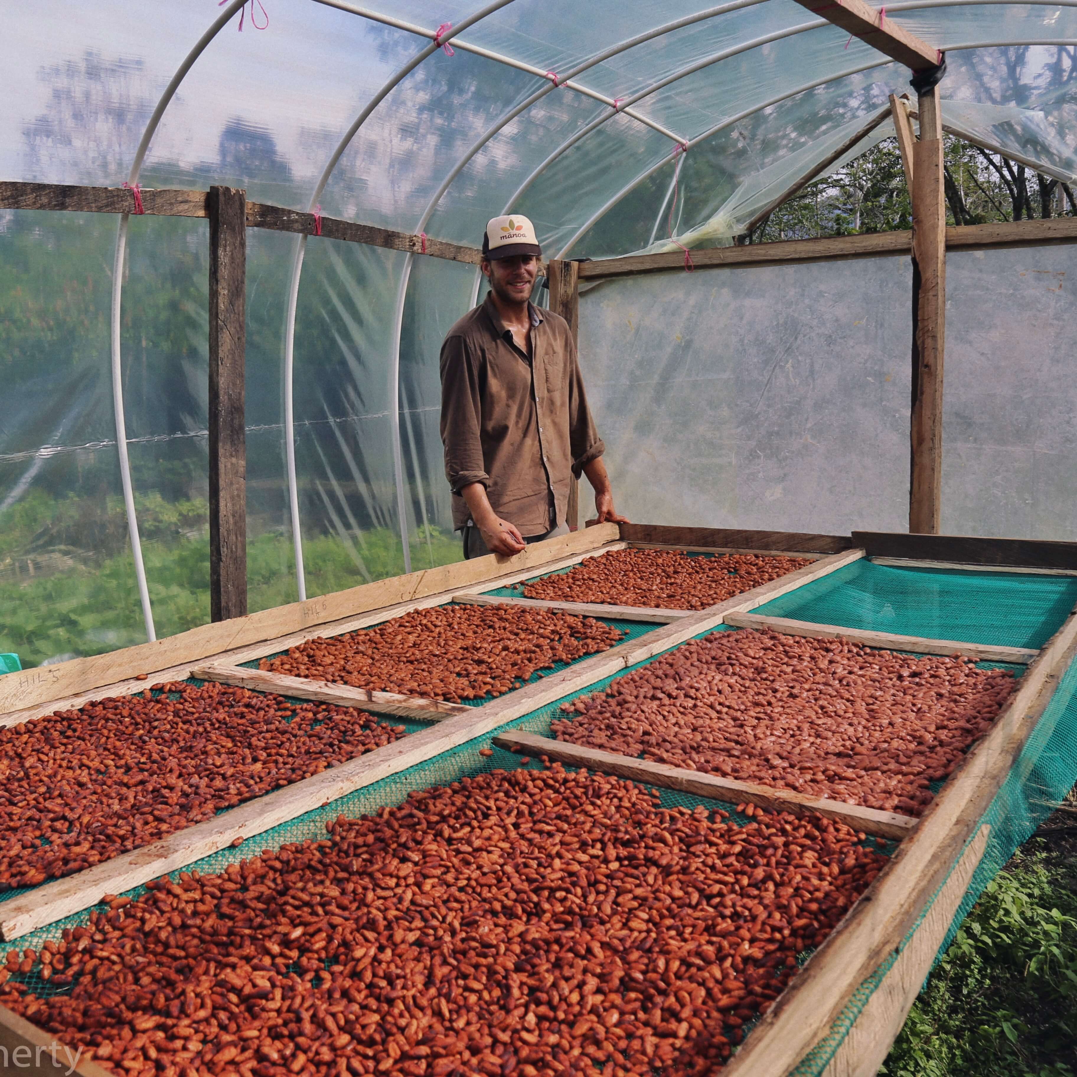
[[[890,1077],[1072,1077],[1077,893],[1068,866],[1019,852],[965,920],[881,1071]]]

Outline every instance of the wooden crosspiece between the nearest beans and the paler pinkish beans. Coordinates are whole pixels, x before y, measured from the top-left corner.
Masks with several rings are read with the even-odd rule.
[[[597,770],[603,774],[616,774],[634,782],[660,785],[665,789],[680,789],[682,793],[723,800],[726,803],[751,803],[774,811],[788,811],[795,815],[814,812],[825,819],[844,823],[854,830],[876,835],[880,838],[893,838],[897,841],[908,837],[918,822],[909,815],[878,811],[875,808],[862,808],[859,805],[844,803],[841,800],[830,800],[824,797],[809,797],[793,789],[738,782],[731,778],[723,778],[721,774],[708,774],[700,770],[670,767],[663,763],[633,759],[627,755],[601,752],[598,749],[553,740],[549,737],[536,737],[534,733],[513,730],[494,737],[493,743],[510,752],[521,752],[523,755],[535,758],[546,756],[548,759],[572,767],[586,767],[588,770]]]

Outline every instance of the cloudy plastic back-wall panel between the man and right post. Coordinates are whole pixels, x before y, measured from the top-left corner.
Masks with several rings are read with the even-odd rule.
[[[615,278],[579,352],[618,510],[699,527],[904,530],[908,258]]]

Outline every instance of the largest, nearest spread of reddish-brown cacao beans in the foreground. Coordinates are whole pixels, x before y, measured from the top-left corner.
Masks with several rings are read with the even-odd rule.
[[[746,813],[494,770],[110,898],[0,1004],[123,1077],[704,1077],[885,864]]]

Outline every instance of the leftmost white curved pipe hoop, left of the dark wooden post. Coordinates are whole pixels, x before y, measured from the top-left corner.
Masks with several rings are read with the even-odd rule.
[[[139,172],[142,170],[142,162],[145,159],[146,151],[150,149],[150,141],[157,131],[160,118],[165,114],[165,109],[176,96],[180,83],[185,78],[192,65],[206,51],[206,46],[216,37],[222,27],[227,25],[228,19],[242,8],[244,0],[232,0],[232,3],[213,20],[209,29],[198,39],[194,48],[184,57],[183,62],[176,69],[171,81],[165,87],[157,107],[153,110],[142,138],[139,140],[138,149],[135,152],[135,160],[131,164],[127,182],[134,185],[138,182]],[[142,605],[142,621],[145,625],[146,638],[152,642],[157,639],[157,632],[153,624],[153,607],[150,604],[150,588],[145,578],[145,564],[142,560],[142,542],[138,533],[138,515],[135,512],[135,491],[131,486],[130,459],[127,456],[127,423],[124,418],[124,378],[123,362],[121,354],[121,311],[123,308],[124,290],[124,260],[127,254],[127,228],[128,214],[120,215],[120,224],[116,228],[116,249],[112,260],[112,311],[111,330],[112,339],[110,348],[110,364],[112,368],[112,412],[116,424],[116,454],[120,458],[120,482],[124,491],[124,510],[127,515],[127,533],[130,536],[131,555],[135,558],[135,579],[138,584],[139,602]]]

